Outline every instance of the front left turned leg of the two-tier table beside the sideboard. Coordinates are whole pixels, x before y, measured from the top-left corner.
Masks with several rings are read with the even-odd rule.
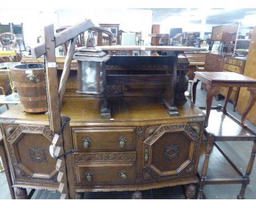
[[[202,199],[203,195],[203,187],[205,186],[205,179],[208,170],[208,163],[210,159],[210,155],[214,145],[214,136],[212,134],[207,134],[207,145],[205,151],[205,161],[203,162],[203,168],[201,172],[201,177],[199,181],[199,193],[197,195],[197,199]]]

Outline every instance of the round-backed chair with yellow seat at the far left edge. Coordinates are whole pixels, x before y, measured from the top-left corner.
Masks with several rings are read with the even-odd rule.
[[[14,33],[0,34],[0,63],[18,62],[16,44],[16,35]]]

